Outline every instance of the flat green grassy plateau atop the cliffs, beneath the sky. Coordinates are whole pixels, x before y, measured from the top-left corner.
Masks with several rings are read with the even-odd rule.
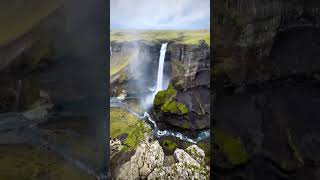
[[[210,32],[207,30],[112,30],[110,40],[111,42],[175,41],[183,44],[198,44],[199,40],[205,40],[210,45]]]

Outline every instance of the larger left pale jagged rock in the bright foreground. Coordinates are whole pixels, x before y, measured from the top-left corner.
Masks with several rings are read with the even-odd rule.
[[[164,153],[158,141],[143,142],[136,153],[120,168],[118,180],[146,179],[156,168],[163,166]]]

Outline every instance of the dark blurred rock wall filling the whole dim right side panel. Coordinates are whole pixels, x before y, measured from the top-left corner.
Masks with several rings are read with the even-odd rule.
[[[319,179],[319,1],[214,2],[217,179]]]

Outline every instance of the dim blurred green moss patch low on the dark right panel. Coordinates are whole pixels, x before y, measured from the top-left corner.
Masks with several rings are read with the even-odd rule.
[[[216,130],[214,141],[232,165],[240,165],[247,162],[247,152],[240,138],[233,138],[220,130]]]

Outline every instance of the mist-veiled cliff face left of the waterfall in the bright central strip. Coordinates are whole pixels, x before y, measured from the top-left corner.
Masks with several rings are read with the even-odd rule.
[[[129,94],[144,94],[156,85],[161,44],[139,41],[111,43],[111,96],[122,90]],[[170,74],[165,62],[164,74]]]

